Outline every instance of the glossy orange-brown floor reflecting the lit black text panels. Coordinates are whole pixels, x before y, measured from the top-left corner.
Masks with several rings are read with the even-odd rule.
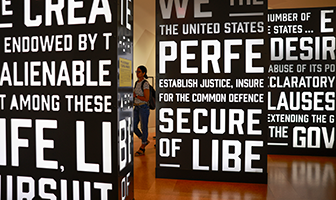
[[[134,158],[135,200],[335,200],[336,158],[268,156],[268,184],[155,179],[155,140]],[[135,138],[137,150],[140,140]]]

